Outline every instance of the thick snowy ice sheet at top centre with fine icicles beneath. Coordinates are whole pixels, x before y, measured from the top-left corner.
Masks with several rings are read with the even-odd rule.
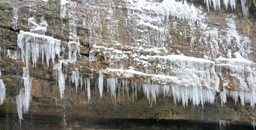
[[[139,38],[132,37],[131,41],[138,41],[146,47],[166,47],[171,43],[171,36],[168,34],[169,25],[162,26],[163,22],[169,20],[187,21],[191,27],[197,26],[206,28],[205,13],[188,5],[186,1],[176,2],[175,0],[164,0],[161,3],[153,1],[127,1],[127,13],[125,26],[135,26],[136,29],[130,33],[140,34]],[[133,25],[133,23],[137,23]],[[169,42],[167,42],[169,41]]]

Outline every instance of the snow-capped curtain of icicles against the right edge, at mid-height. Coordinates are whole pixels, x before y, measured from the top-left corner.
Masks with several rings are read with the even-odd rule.
[[[236,58],[215,59],[215,69],[222,76],[223,87],[222,102],[226,102],[226,96],[234,99],[235,103],[240,97],[241,105],[249,103],[251,107],[256,105],[256,63],[248,61],[236,52]],[[232,86],[232,88],[230,88]],[[228,88],[232,89],[229,91]],[[234,91],[235,90],[235,91]]]

